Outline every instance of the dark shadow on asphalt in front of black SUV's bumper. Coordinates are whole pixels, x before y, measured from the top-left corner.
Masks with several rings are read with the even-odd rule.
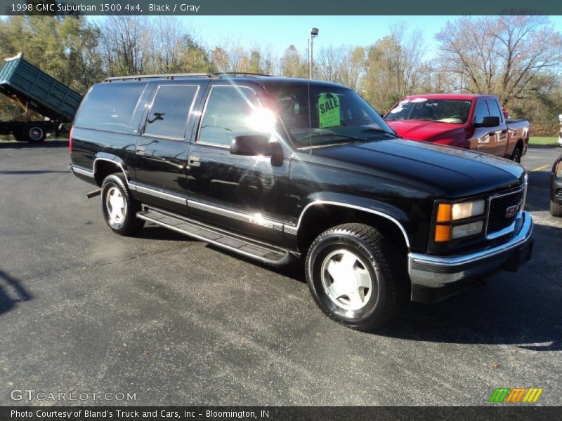
[[[518,272],[502,272],[484,288],[470,288],[443,302],[411,303],[375,334],[562,351],[562,279],[557,254],[561,244],[549,243],[549,239],[562,239],[562,229],[535,224],[533,236],[533,256]]]

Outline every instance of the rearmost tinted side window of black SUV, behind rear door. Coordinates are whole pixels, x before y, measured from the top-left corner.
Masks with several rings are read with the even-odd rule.
[[[117,133],[131,132],[131,116],[146,83],[94,85],[74,120],[74,126]]]

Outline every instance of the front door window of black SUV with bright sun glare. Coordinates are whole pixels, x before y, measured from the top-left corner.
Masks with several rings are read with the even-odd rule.
[[[257,105],[254,91],[244,86],[214,86],[199,131],[197,142],[230,145],[238,135],[254,134],[248,117]]]

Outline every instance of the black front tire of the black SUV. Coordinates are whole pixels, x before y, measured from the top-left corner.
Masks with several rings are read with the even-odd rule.
[[[343,265],[348,252],[357,258],[351,264],[352,270],[361,272],[362,276],[367,271],[372,284],[370,294],[369,288],[363,288],[360,293],[362,307],[359,309],[351,308],[351,295],[334,300],[332,287],[336,285],[336,279],[327,273],[332,263]],[[340,262],[336,262],[338,253],[343,253]],[[398,312],[407,296],[407,276],[396,255],[396,250],[381,232],[368,225],[344,224],[327,229],[308,248],[305,264],[308,288],[318,307],[331,319],[356,330],[374,330]],[[359,279],[357,274],[350,277],[345,272],[339,273],[344,276],[346,287],[351,285],[348,279]],[[355,286],[359,281],[354,282],[351,290],[362,288]]]

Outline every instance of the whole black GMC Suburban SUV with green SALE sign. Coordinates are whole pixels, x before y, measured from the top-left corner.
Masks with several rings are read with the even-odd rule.
[[[107,79],[70,152],[117,234],[148,221],[270,265],[303,260],[320,309],[359,330],[530,258],[523,167],[398,138],[334,83]]]

